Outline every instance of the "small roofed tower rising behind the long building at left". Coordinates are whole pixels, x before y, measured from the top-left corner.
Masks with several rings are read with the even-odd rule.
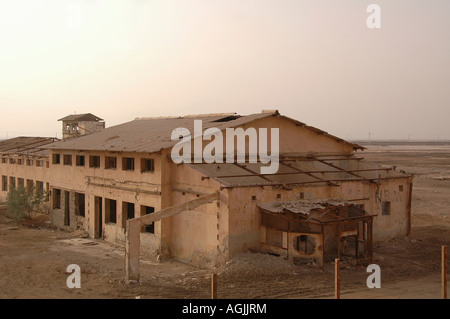
[[[105,128],[105,121],[91,113],[73,114],[58,121],[63,122],[63,139],[99,132]]]

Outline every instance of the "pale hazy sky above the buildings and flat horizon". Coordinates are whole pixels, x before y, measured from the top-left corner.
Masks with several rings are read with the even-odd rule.
[[[344,139],[450,139],[450,1],[0,0],[0,138],[61,137],[75,111],[262,109]]]

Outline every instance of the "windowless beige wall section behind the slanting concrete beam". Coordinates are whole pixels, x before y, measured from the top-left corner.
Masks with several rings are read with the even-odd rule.
[[[219,190],[220,185],[187,165],[173,165],[173,205]],[[228,260],[228,206],[226,192],[220,202],[170,217],[171,255],[194,264],[215,266]],[[224,204],[222,203],[224,202]]]

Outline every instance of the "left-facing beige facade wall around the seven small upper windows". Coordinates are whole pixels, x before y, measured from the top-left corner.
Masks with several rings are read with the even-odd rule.
[[[61,154],[60,164],[50,164],[52,171],[51,182],[53,188],[61,190],[71,189],[86,196],[86,217],[78,225],[88,232],[89,236],[96,238],[98,234],[99,216],[95,216],[95,197],[102,198],[103,212],[101,224],[103,226],[102,238],[105,240],[124,245],[125,243],[125,220],[123,218],[122,203],[129,202],[135,205],[135,217],[141,214],[141,206],[151,206],[155,211],[161,209],[161,157],[157,154],[139,153],[112,153],[112,152],[80,152],[80,151],[52,151],[53,154]],[[64,165],[63,156],[72,156],[72,165]],[[76,165],[76,156],[85,156],[85,165]],[[89,167],[89,156],[100,157],[100,167]],[[116,157],[117,167],[107,169],[105,167],[106,157]],[[122,170],[122,160],[125,157],[135,159],[133,171]],[[141,159],[154,159],[154,172],[141,172]],[[106,223],[106,199],[117,202],[117,222]],[[55,225],[64,226],[64,215],[60,210],[55,210]],[[155,222],[155,233],[142,233],[141,243],[144,253],[153,253],[159,250],[161,237],[161,223]],[[72,226],[72,225],[71,225]]]

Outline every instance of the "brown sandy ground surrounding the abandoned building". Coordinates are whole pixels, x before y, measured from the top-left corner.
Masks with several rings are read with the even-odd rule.
[[[450,147],[372,146],[365,159],[415,175],[412,233],[375,245],[381,288],[368,289],[368,273],[341,262],[342,298],[440,298],[441,245],[450,244]],[[81,288],[69,289],[66,268],[81,268]],[[333,298],[334,265],[324,270],[281,257],[243,254],[218,269],[175,260],[141,260],[140,283],[124,281],[124,249],[82,232],[52,227],[48,216],[20,223],[0,211],[0,298],[209,298],[218,273],[219,298]]]

